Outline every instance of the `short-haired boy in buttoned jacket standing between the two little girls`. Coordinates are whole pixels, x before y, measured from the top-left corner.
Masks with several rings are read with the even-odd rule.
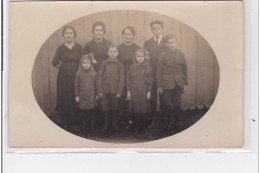
[[[113,126],[118,130],[116,117],[118,101],[124,89],[124,66],[117,59],[118,50],[115,45],[108,46],[108,59],[101,63],[97,77],[97,92],[101,99],[101,107],[104,113],[105,126],[103,131],[108,129],[108,113],[112,111]]]

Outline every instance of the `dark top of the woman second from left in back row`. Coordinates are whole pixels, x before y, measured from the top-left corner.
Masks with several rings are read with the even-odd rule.
[[[84,46],[83,53],[92,53],[97,60],[97,64],[94,65],[97,72],[99,71],[101,63],[108,58],[107,51],[110,44],[112,44],[110,41],[103,38],[102,42],[96,42],[95,39],[93,39]]]

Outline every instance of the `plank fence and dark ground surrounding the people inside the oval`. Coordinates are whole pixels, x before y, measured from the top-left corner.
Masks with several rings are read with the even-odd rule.
[[[182,95],[181,116],[184,127],[179,130],[172,130],[171,133],[164,130],[163,116],[155,128],[142,133],[134,134],[131,116],[118,117],[120,131],[109,129],[102,132],[103,117],[101,111],[96,111],[95,131],[80,132],[80,121],[67,127],[63,123],[62,114],[55,111],[56,107],[56,85],[58,69],[52,66],[52,59],[59,45],[64,43],[62,29],[55,31],[42,45],[34,62],[32,70],[32,85],[34,96],[38,105],[46,116],[59,127],[77,136],[94,141],[112,143],[138,143],[162,139],[179,133],[202,118],[210,109],[218,92],[220,72],[219,64],[214,51],[208,42],[194,29],[188,25],[161,15],[146,11],[115,10],[94,13],[80,17],[66,25],[71,25],[77,32],[76,42],[84,46],[93,39],[91,30],[96,21],[105,23],[105,38],[113,44],[123,43],[121,32],[126,26],[133,26],[136,35],[133,42],[143,47],[145,40],[153,35],[150,29],[150,22],[160,20],[163,22],[164,34],[174,33],[177,36],[178,49],[184,53],[188,66],[188,89]],[[120,21],[120,22],[118,22]],[[151,118],[144,118],[145,126],[151,122]]]

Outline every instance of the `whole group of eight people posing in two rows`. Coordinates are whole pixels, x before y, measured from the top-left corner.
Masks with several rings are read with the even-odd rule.
[[[143,49],[133,43],[136,31],[132,26],[123,29],[124,42],[115,46],[104,38],[104,23],[95,22],[94,38],[84,48],[75,42],[72,26],[63,28],[65,43],[57,48],[52,64],[59,68],[56,111],[62,112],[67,125],[71,118],[81,117],[82,130],[89,121],[94,131],[98,109],[103,131],[110,126],[119,130],[118,116],[124,115],[130,115],[136,132],[153,128],[161,116],[166,117],[167,130],[176,119],[179,126],[183,124],[180,102],[188,85],[184,54],[177,49],[174,34],[163,36],[161,21],[152,21],[150,27],[153,37]],[[147,116],[151,122],[146,127]]]

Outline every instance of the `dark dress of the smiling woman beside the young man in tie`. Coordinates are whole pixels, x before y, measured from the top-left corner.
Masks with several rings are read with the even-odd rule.
[[[125,76],[133,63],[133,60],[135,59],[135,52],[138,49],[140,49],[140,47],[134,43],[130,46],[127,46],[124,43],[118,46],[118,59],[124,64]],[[128,104],[126,104],[126,89],[124,89],[123,95],[120,98],[119,114],[121,116],[126,115],[126,110],[128,110]]]

